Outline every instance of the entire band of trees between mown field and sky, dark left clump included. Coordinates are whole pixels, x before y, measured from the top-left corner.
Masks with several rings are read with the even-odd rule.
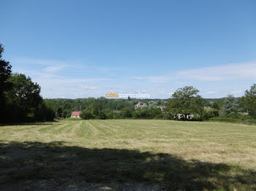
[[[0,44],[0,122],[48,121],[69,118],[73,111],[83,111],[83,119],[164,119],[253,121],[256,119],[256,84],[241,98],[204,99],[192,86],[179,88],[167,100],[77,98],[43,99],[40,86],[24,74],[12,73],[12,66],[2,58]],[[146,105],[135,109],[135,104]],[[164,106],[164,107],[162,107]],[[161,109],[160,109],[161,108]],[[164,109],[163,109],[164,108]],[[256,122],[256,120],[255,120]]]

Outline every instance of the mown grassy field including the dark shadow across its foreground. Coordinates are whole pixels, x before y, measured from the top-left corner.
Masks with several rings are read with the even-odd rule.
[[[62,120],[0,141],[0,190],[256,190],[255,125]]]

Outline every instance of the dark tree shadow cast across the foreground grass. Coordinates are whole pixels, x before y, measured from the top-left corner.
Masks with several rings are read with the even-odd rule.
[[[166,190],[254,190],[256,173],[163,153],[68,147],[64,142],[0,143],[0,184],[28,180],[143,182]]]

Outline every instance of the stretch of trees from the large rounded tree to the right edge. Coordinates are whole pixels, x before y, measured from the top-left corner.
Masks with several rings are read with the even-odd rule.
[[[227,95],[221,99],[203,99],[199,90],[192,86],[179,88],[167,102],[166,111],[176,118],[182,114],[181,120],[216,120],[230,122],[256,122],[256,84],[246,90],[244,96],[235,98]]]

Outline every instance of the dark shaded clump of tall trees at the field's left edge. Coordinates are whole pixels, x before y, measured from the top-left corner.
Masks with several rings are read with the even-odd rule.
[[[0,122],[53,120],[54,111],[42,99],[40,86],[24,74],[12,73],[3,52],[0,44]]]

